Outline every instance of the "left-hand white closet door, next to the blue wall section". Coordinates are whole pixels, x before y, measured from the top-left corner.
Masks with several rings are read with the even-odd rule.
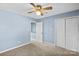
[[[56,45],[65,48],[65,20],[55,20],[55,39]]]

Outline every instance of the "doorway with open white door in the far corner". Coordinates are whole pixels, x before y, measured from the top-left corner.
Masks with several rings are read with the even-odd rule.
[[[42,42],[42,22],[31,22],[31,41]]]

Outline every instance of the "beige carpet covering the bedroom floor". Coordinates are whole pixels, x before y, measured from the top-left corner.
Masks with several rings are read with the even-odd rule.
[[[31,43],[7,52],[0,56],[77,56],[79,53],[69,51],[51,44]]]

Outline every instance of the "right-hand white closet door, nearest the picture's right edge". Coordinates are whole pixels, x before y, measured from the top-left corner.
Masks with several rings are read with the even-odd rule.
[[[66,19],[66,48],[77,51],[78,18]]]

